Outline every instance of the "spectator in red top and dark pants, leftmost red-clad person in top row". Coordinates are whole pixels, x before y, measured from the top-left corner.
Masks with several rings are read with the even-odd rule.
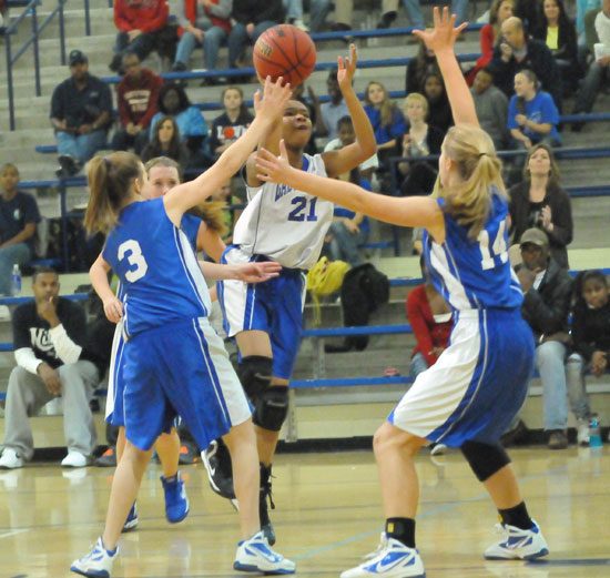
[[[143,62],[156,48],[169,16],[167,0],[114,0],[114,24],[119,33],[110,70],[122,72],[122,59],[126,52],[134,52]]]

